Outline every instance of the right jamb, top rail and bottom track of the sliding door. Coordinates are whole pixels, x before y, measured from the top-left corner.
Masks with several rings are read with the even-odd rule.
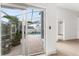
[[[42,12],[43,12],[43,29],[44,29],[44,37],[43,39],[41,38],[41,40],[43,40],[43,52],[37,52],[37,53],[33,53],[33,54],[28,54],[28,55],[38,55],[38,54],[41,54],[41,53],[44,53],[44,55],[46,55],[46,8],[42,8],[42,7],[38,7],[38,6],[33,6],[31,4],[27,4],[29,7],[32,7],[32,8],[36,8],[36,9],[40,9]],[[27,26],[27,25],[26,25]],[[28,31],[28,29],[27,29]],[[28,36],[28,34],[26,34],[26,36]],[[26,37],[27,40],[28,40],[28,37]],[[29,49],[29,48],[28,48]]]

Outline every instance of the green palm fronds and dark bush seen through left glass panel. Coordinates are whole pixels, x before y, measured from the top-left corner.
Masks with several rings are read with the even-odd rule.
[[[9,19],[9,21],[11,22],[11,24],[16,25],[17,31],[16,31],[16,34],[15,34],[15,38],[12,39],[12,46],[17,46],[18,44],[20,44],[20,40],[22,38],[22,31],[20,31],[18,29],[19,19],[16,16],[9,16],[9,15],[6,15],[6,16],[3,16],[3,17]]]

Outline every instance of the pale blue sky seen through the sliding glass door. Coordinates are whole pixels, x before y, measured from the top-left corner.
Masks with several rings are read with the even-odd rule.
[[[4,12],[6,12],[8,15],[11,15],[11,16],[17,16],[17,15],[21,16],[22,11],[23,11],[23,10],[20,10],[20,9],[9,9],[9,8],[1,8],[1,10],[4,11]],[[32,13],[29,13],[29,12],[32,12],[32,9],[31,8],[28,8],[26,10],[26,12],[27,12],[27,14],[26,14],[27,19],[28,20],[31,20]],[[4,20],[7,21],[7,19],[4,19]],[[34,12],[33,13],[32,20],[33,21],[40,20],[39,12]]]

